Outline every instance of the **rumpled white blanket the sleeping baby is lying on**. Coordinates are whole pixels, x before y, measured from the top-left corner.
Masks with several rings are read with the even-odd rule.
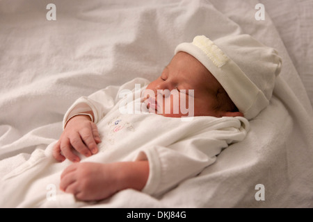
[[[60,0],[49,21],[45,1],[1,1],[0,163],[18,167],[58,139],[79,96],[154,79],[180,42],[248,33],[278,49],[283,67],[271,104],[250,121],[246,139],[160,198],[125,190],[89,206],[313,207],[312,106],[271,17],[255,19],[257,3]],[[6,159],[16,155],[19,161]]]

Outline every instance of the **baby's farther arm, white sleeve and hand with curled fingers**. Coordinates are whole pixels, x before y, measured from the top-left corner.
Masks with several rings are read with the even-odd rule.
[[[125,83],[121,87],[110,85],[88,97],[82,96],[77,99],[65,113],[63,126],[65,124],[66,126],[64,126],[63,133],[54,146],[54,158],[58,161],[67,158],[72,162],[79,162],[79,157],[72,152],[73,148],[86,156],[97,153],[97,144],[101,140],[95,123],[98,123],[120,101],[120,91],[128,89],[131,92],[135,84],[143,86],[147,83],[149,81],[138,78]],[[86,115],[74,116],[79,113],[91,114],[93,121],[90,121],[90,117]]]

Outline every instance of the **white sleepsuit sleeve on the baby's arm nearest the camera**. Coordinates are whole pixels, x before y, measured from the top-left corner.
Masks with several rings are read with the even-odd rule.
[[[159,196],[183,180],[197,176],[216,161],[224,148],[243,140],[249,128],[248,120],[243,117],[221,125],[219,129],[208,129],[168,147],[152,146],[141,151],[137,160],[148,160],[150,167],[143,192]]]

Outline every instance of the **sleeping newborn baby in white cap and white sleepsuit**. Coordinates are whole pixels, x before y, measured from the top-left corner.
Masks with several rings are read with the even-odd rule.
[[[60,139],[3,176],[0,207],[78,207],[125,189],[161,196],[246,137],[280,65],[277,52],[250,35],[179,44],[157,79],[77,99]],[[51,185],[60,188],[54,201]]]

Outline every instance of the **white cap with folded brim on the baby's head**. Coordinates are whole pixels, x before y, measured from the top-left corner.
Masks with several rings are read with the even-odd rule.
[[[250,35],[230,35],[212,42],[198,35],[184,42],[184,51],[199,60],[223,86],[246,119],[252,119],[269,104],[282,60],[275,49]]]

